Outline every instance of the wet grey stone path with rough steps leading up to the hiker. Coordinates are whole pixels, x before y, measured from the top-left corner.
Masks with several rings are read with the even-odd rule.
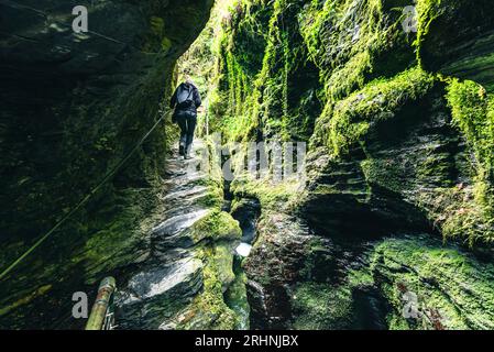
[[[150,256],[118,294],[120,329],[180,329],[185,323],[208,329],[222,314],[232,315],[222,295],[235,279],[233,248],[240,228],[228,213],[201,202],[213,188],[207,170],[196,167],[205,147],[197,140],[195,158],[184,161],[175,152],[168,160],[164,221],[151,230]],[[200,306],[206,295],[216,301]],[[212,308],[217,315],[208,316]]]

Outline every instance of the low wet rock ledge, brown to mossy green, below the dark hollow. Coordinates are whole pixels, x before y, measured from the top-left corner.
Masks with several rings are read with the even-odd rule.
[[[260,231],[245,264],[251,327],[492,329],[491,260],[433,234]]]

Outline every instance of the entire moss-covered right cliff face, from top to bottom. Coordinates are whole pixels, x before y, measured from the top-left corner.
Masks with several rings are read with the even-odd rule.
[[[237,169],[237,199],[263,208],[252,326],[493,327],[494,28],[468,2],[418,1],[418,33],[407,1],[244,1],[223,19],[212,123],[309,143],[301,182]]]

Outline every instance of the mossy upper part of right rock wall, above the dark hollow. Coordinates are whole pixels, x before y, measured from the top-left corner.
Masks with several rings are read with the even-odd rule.
[[[342,197],[349,209],[361,209],[375,195],[381,208],[391,208],[376,211],[375,221],[370,216],[371,222],[388,217],[421,228],[429,221],[446,238],[488,243],[492,14],[485,1],[475,9],[466,9],[465,1],[419,1],[415,33],[404,30],[406,6],[235,2],[216,43],[213,129],[237,141],[308,141],[307,199]],[[466,46],[479,50],[465,54],[460,47]],[[466,62],[476,68],[461,66]],[[455,80],[475,75],[476,82]],[[405,142],[410,133],[416,136]],[[442,136],[440,146],[432,146]],[[409,148],[416,151],[403,153]],[[328,179],[325,167],[343,176],[351,165],[358,175]],[[323,178],[330,185],[317,182]]]

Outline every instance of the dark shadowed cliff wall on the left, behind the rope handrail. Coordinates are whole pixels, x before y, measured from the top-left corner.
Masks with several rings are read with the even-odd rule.
[[[2,268],[84,199],[163,116],[176,61],[205,26],[212,2],[0,4]],[[89,11],[88,33],[72,29],[75,6]],[[142,260],[150,226],[143,221],[160,207],[158,180],[174,135],[165,119],[124,169],[4,278],[0,326],[66,328],[74,289],[92,292],[101,275]],[[47,306],[33,308],[41,302]],[[50,316],[50,305],[67,309]]]

